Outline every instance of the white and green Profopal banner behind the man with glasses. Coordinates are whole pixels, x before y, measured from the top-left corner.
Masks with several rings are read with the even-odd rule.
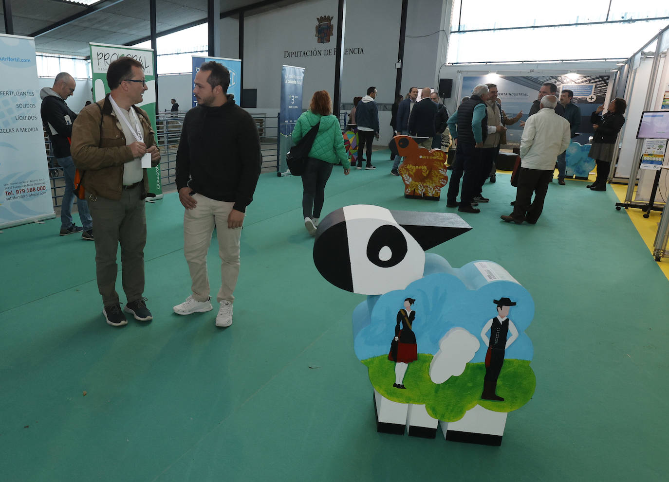
[[[158,142],[158,130],[156,128],[156,75],[153,65],[153,49],[138,49],[135,47],[124,47],[123,45],[106,45],[104,43],[90,43],[90,65],[93,75],[93,98],[95,102],[104,99],[109,94],[110,89],[107,85],[107,68],[109,64],[119,57],[132,57],[144,66],[145,81],[147,82],[147,92],[144,93],[140,104],[135,104],[149,114],[151,127]],[[153,199],[163,197],[161,187],[161,166],[147,169],[149,174],[149,192],[156,195]],[[149,199],[149,198],[147,198]]]

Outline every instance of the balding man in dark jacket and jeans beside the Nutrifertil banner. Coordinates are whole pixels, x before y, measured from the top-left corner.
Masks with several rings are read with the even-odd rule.
[[[41,118],[49,139],[51,140],[52,154],[56,156],[58,165],[63,169],[65,191],[60,206],[60,235],[82,233],[83,239],[93,240],[93,220],[88,211],[86,199],[79,199],[74,195],[74,174],[76,167],[70,152],[72,138],[72,123],[77,114],[72,112],[65,100],[74,94],[76,82],[67,72],[61,72],[54,79],[52,88],[45,87],[39,92],[42,100]],[[77,226],[72,220],[72,204],[77,200],[77,211],[83,227]]]

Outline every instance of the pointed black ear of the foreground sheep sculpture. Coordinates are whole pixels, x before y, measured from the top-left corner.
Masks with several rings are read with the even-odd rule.
[[[415,239],[424,251],[466,233],[472,227],[451,213],[391,211],[393,218]]]

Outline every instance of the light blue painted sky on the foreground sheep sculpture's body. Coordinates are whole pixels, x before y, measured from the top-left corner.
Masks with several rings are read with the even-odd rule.
[[[530,293],[514,281],[488,281],[475,263],[480,261],[453,268],[444,258],[431,253],[426,259],[425,277],[409,284],[406,289],[370,296],[359,304],[353,312],[356,356],[367,360],[389,352],[395,336],[397,312],[403,308],[404,299],[410,297],[416,300],[412,307],[416,312],[413,332],[419,353],[436,354],[439,341],[446,332],[460,326],[480,342],[472,363],[483,362],[488,347],[480,337],[481,330],[497,315],[493,300],[508,297],[516,302],[516,306],[510,308],[508,318],[518,329],[518,339],[506,350],[505,358],[532,360],[532,341],[524,333],[535,312]],[[484,263],[499,267],[492,261]],[[489,332],[487,336],[490,336]],[[508,336],[511,336],[510,332]]]

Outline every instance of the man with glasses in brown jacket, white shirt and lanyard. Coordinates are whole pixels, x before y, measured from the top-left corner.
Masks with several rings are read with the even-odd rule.
[[[124,310],[135,320],[153,319],[145,303],[144,246],[147,243],[145,199],[147,166],[161,155],[149,116],[134,106],[148,90],[142,64],[120,57],[109,64],[111,90],[100,102],[84,107],[72,129],[72,157],[83,171],[82,183],[95,221],[96,275],[103,314],[111,326],[127,324],[116,293],[116,252],[121,247]]]

